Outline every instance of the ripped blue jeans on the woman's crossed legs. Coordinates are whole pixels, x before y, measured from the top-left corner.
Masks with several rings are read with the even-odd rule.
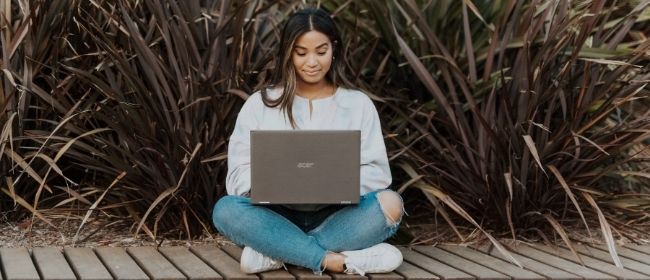
[[[368,248],[386,240],[399,227],[389,220],[377,199],[382,191],[361,196],[359,204],[296,211],[251,204],[250,198],[224,196],[212,220],[219,232],[242,246],[273,259],[320,272],[328,252]]]

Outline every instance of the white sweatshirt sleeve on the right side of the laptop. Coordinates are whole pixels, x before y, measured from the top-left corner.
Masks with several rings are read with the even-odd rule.
[[[392,182],[379,114],[370,98],[364,103],[361,128],[361,195],[388,188]]]

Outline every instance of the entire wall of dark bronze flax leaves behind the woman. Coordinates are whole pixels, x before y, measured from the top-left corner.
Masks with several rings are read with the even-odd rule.
[[[286,16],[319,6],[377,104],[396,190],[495,244],[600,227],[611,245],[650,218],[648,5],[0,0],[1,211],[211,232],[236,114]]]

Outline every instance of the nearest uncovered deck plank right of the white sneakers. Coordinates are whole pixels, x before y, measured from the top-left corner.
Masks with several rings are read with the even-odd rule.
[[[404,256],[404,260],[408,261],[411,264],[419,266],[420,268],[428,272],[431,272],[432,274],[438,277],[433,279],[445,279],[445,280],[475,279],[475,277],[472,275],[469,275],[461,270],[448,266],[435,259],[429,258],[416,251],[410,250],[408,248],[403,248],[403,247],[400,247],[399,249],[402,252],[402,256]]]

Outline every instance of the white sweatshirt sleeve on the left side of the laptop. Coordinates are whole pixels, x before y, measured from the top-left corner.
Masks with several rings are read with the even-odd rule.
[[[229,195],[247,196],[251,189],[250,131],[258,125],[250,96],[237,115],[235,129],[228,143],[228,174],[226,191]]]

